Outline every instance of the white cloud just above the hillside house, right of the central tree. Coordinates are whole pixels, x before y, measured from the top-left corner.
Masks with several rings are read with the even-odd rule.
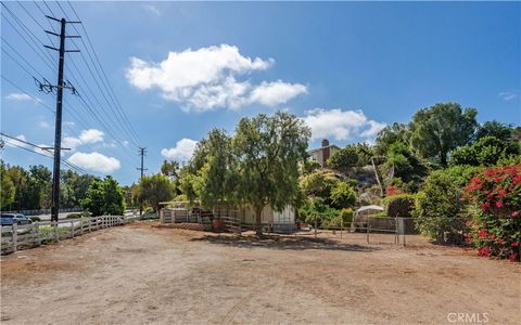
[[[361,110],[316,108],[307,112],[303,120],[312,129],[312,139],[332,136],[334,140],[367,138],[370,140],[385,123],[370,120]]]

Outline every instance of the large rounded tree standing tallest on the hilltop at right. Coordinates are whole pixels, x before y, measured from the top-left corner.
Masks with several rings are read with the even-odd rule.
[[[410,144],[423,157],[435,157],[446,166],[448,153],[474,135],[475,116],[474,108],[461,109],[456,103],[419,109],[410,123]]]

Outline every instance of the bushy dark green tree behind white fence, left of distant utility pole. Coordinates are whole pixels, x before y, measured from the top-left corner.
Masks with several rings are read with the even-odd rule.
[[[117,182],[107,176],[103,181],[94,180],[90,184],[81,206],[92,217],[103,214],[123,216],[125,212],[125,194]]]

